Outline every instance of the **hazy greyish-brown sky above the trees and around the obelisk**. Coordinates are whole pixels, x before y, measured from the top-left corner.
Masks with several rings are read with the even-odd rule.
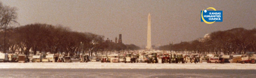
[[[256,0],[1,0],[18,8],[20,25],[47,23],[92,32],[124,44],[146,46],[151,15],[152,45],[193,41],[213,31],[256,27]],[[200,22],[201,10],[223,10],[223,22]]]

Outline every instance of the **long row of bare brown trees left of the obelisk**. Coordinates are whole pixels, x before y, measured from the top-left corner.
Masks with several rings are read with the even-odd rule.
[[[71,31],[69,28],[61,25],[53,26],[47,24],[30,24],[17,28],[8,28],[6,31],[6,44],[0,42],[0,45],[5,45],[7,48],[0,47],[8,52],[21,52],[26,55],[33,51],[70,54],[70,56],[78,52],[86,52],[91,56],[93,53],[104,51],[120,51],[120,50],[138,50],[139,47],[130,44],[113,43],[104,41],[104,36],[81,33]],[[3,33],[0,33],[2,36]],[[2,38],[0,38],[3,40]]]

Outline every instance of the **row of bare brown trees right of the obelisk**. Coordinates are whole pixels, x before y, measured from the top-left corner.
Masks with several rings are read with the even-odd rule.
[[[244,54],[256,51],[256,28],[247,30],[233,28],[226,31],[215,31],[204,38],[179,44],[161,46],[160,50],[173,50],[188,53],[224,53],[226,55]]]

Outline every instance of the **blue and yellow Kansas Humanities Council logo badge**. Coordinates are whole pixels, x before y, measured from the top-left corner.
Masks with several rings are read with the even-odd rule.
[[[214,11],[208,11],[207,9],[213,9]],[[217,11],[213,7],[209,7],[207,9],[203,9],[203,11],[201,11],[201,22],[205,22],[206,24],[212,24],[214,22],[223,22],[222,11]]]

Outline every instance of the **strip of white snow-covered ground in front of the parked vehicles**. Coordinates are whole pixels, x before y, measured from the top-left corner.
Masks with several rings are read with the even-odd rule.
[[[0,69],[256,69],[256,64],[241,63],[101,63],[101,62],[0,62]]]

